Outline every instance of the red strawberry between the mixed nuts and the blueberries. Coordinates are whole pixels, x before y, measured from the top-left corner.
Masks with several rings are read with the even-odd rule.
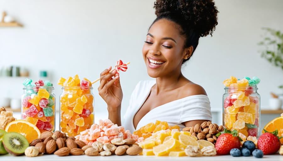
[[[241,148],[241,138],[238,136],[237,130],[224,129],[224,132],[218,133],[216,136],[217,141],[215,143],[217,155],[227,155],[233,148]]]

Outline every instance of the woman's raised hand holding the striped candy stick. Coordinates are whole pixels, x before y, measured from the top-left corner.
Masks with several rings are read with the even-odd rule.
[[[111,66],[100,73],[100,85],[98,87],[99,95],[107,103],[108,111],[116,111],[121,107],[123,98],[123,92],[120,85],[119,74],[116,74],[117,70],[111,70]],[[108,74],[109,73],[109,74]],[[114,78],[112,79],[112,77]]]

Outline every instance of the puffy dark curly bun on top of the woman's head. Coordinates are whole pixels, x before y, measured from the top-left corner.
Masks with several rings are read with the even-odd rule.
[[[218,10],[213,0],[156,0],[154,8],[157,17],[163,14],[180,16],[187,26],[202,37],[212,35],[218,24]]]

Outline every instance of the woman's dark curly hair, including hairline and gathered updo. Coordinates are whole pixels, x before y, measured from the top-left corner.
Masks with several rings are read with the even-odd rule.
[[[195,50],[199,38],[212,36],[218,24],[219,11],[213,0],[156,0],[153,8],[157,15],[153,23],[165,18],[179,25],[180,34],[186,38],[184,48],[193,46]]]

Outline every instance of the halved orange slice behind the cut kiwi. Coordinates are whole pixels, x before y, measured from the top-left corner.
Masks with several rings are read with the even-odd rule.
[[[6,132],[18,132],[25,136],[29,143],[40,136],[39,129],[32,123],[25,120],[16,120],[8,123],[5,128]]]

